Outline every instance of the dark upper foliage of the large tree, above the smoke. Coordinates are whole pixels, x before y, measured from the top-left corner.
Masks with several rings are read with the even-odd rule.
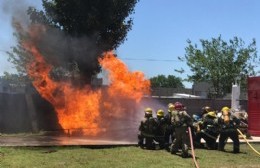
[[[136,3],[137,0],[43,0],[49,24],[73,37],[96,35],[95,42],[103,51],[115,49],[125,40],[133,24],[132,18],[126,18]]]

